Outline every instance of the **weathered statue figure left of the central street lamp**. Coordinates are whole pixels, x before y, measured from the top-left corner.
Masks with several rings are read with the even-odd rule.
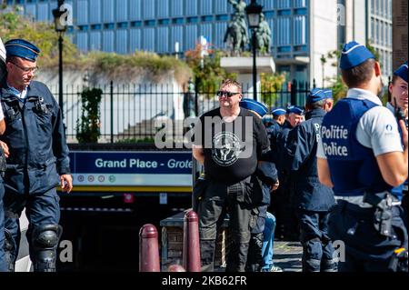
[[[244,0],[228,0],[228,2],[234,6],[234,15],[227,26],[224,43],[233,46],[234,55],[240,55],[240,52],[244,51],[245,45],[249,43],[247,23],[245,21],[246,4]]]

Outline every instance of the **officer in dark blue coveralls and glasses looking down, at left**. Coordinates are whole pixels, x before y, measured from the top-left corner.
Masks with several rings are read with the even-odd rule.
[[[23,39],[9,40],[5,50],[7,75],[0,97],[7,127],[0,139],[9,149],[4,198],[8,269],[14,271],[18,219],[25,208],[34,270],[53,272],[62,233],[55,186],[61,183],[66,192],[73,187],[62,114],[48,88],[33,81],[40,50]]]

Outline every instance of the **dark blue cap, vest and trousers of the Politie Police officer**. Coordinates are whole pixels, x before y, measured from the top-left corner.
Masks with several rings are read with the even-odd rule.
[[[349,70],[369,58],[374,55],[364,45],[348,43],[344,45],[341,69]],[[384,182],[373,149],[356,138],[361,117],[378,105],[366,98],[347,96],[324,116],[322,124],[323,148],[338,204],[330,216],[329,234],[344,243],[341,272],[392,269],[394,250],[407,249],[401,208],[390,194],[392,186]]]

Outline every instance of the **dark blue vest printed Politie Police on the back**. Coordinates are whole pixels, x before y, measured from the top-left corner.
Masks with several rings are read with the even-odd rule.
[[[324,116],[322,139],[335,195],[363,195],[391,190],[384,182],[374,152],[356,139],[359,119],[376,106],[371,101],[345,98]]]

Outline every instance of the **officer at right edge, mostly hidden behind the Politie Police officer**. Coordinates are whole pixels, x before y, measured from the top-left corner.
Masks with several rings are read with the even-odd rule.
[[[399,66],[394,71],[394,77],[391,84],[389,84],[389,102],[386,107],[391,110],[392,113],[398,118],[403,119],[408,126],[408,107],[407,107],[407,62],[404,65]],[[401,131],[400,131],[401,132]],[[402,132],[401,132],[402,133]],[[402,208],[404,209],[404,225],[407,229],[407,180],[403,185],[396,186],[392,189],[394,195],[401,197],[402,195]]]

